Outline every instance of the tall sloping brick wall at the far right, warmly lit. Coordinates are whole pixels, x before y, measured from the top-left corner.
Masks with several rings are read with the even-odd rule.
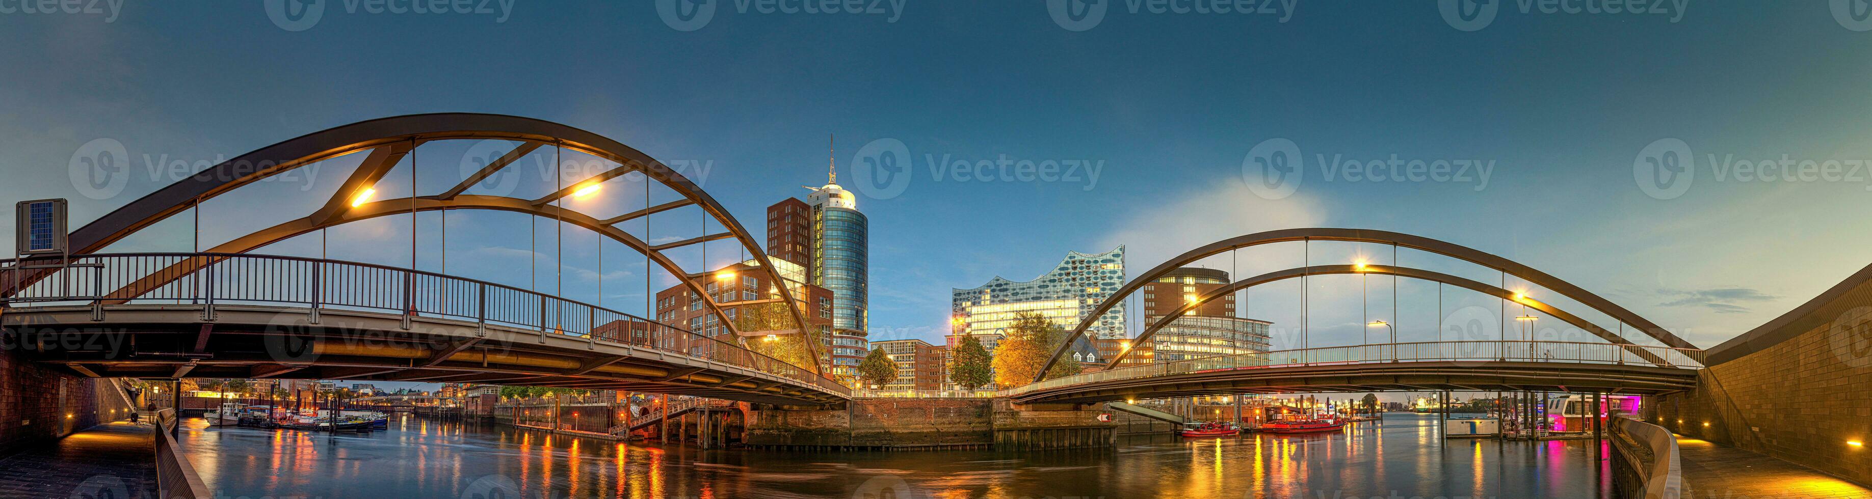
[[[1647,422],[1872,484],[1872,267],[1709,349],[1698,389],[1645,400]]]

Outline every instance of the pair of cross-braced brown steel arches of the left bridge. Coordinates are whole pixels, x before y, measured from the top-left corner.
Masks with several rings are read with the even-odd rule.
[[[404,155],[414,151],[417,146],[434,140],[513,140],[519,142],[519,146],[507,151],[505,155],[490,161],[479,172],[464,178],[453,189],[444,191],[440,194],[416,196],[414,200],[412,198],[378,200],[378,202],[365,202],[352,206],[352,200],[359,192],[371,189],[371,185],[382,179],[384,174],[389,172],[391,166],[395,166]],[[547,196],[532,200],[462,194],[472,185],[479,183],[481,179],[492,174],[498,174],[500,170],[522,159],[526,153],[543,146],[554,146],[588,153],[597,159],[616,163],[618,166],[595,174],[592,178],[586,178],[582,181],[565,185],[560,191],[554,191]],[[747,252],[768,271],[771,278],[769,282],[777,284],[775,286],[777,293],[781,295],[781,301],[788,305],[786,310],[794,318],[794,323],[797,323],[801,331],[807,329],[805,316],[799,312],[797,307],[792,307],[792,303],[796,303],[792,290],[784,286],[786,280],[781,277],[779,269],[773,267],[773,262],[768,258],[768,254],[760,249],[760,241],[756,241],[732,215],[728,215],[726,207],[715,202],[715,198],[704,192],[695,181],[687,179],[683,174],[672,170],[661,161],[631,146],[616,142],[612,138],[562,123],[520,118],[520,116],[504,116],[504,114],[444,112],[444,114],[391,116],[391,118],[358,121],[350,125],[339,125],[309,133],[298,138],[290,138],[279,144],[271,144],[243,153],[240,157],[228,159],[221,164],[210,166],[182,181],[170,183],[148,196],[137,198],[125,204],[124,207],[107,213],[105,217],[99,217],[97,221],[92,221],[90,224],[84,224],[82,228],[71,232],[69,235],[71,252],[90,254],[103,250],[107,245],[122,241],[124,237],[142,228],[148,228],[193,206],[198,206],[202,200],[215,198],[243,185],[256,183],[266,178],[305,164],[350,153],[367,153],[367,157],[363,159],[363,163],[358,164],[358,168],[350,174],[350,178],[344,179],[344,183],[337,189],[337,192],[329,200],[326,200],[326,204],[320,209],[314,209],[311,215],[303,219],[288,221],[260,232],[236,237],[217,247],[215,252],[247,252],[264,247],[266,243],[281,241],[298,234],[307,234],[318,228],[328,228],[343,222],[374,219],[384,215],[401,215],[401,213],[434,211],[434,209],[519,211],[535,217],[563,219],[565,222],[573,222],[575,226],[597,232],[599,235],[610,237],[614,241],[631,247],[633,250],[642,252],[646,258],[657,262],[665,271],[674,275],[696,295],[700,295],[704,303],[709,307],[711,314],[724,327],[728,327],[728,331],[739,336],[741,335],[739,327],[736,327],[734,321],[728,320],[721,305],[715,303],[715,299],[704,290],[702,282],[698,282],[698,277],[702,277],[702,273],[706,273],[708,269],[702,269],[702,273],[689,273],[670,258],[663,256],[663,250],[668,249],[732,237],[739,241],[741,247],[747,249]],[[610,219],[597,219],[586,213],[578,213],[575,209],[563,209],[552,206],[552,202],[556,200],[573,196],[577,189],[603,183],[631,172],[640,172],[646,176],[646,181],[655,179],[665,187],[668,187],[670,191],[681,194],[683,198],[659,206],[646,206],[644,209]],[[691,237],[665,245],[650,245],[648,241],[642,241],[635,235],[625,234],[623,230],[614,228],[616,224],[625,221],[650,217],[653,213],[685,206],[700,207],[704,213],[715,219],[724,228],[724,232],[706,234],[700,237]],[[189,267],[155,273],[152,277],[133,282],[133,286],[125,286],[116,293],[110,293],[110,297],[112,299],[135,297],[139,288],[148,290],[150,284],[159,286],[206,264],[212,262],[189,260],[178,264]],[[6,288],[0,288],[0,297],[9,297],[21,292],[22,288],[30,286],[32,282],[37,282],[39,278],[45,278],[49,275],[52,275],[52,269],[26,273],[22,275],[22,278],[9,282]],[[809,357],[812,357],[814,370],[824,374],[824,366],[818,364],[818,351],[816,351],[818,346],[814,342],[807,342],[807,348],[812,349],[812,355]]]

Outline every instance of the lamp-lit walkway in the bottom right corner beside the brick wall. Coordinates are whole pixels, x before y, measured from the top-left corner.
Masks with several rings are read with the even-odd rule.
[[[1677,437],[1683,499],[1872,497],[1872,490],[1797,463]]]

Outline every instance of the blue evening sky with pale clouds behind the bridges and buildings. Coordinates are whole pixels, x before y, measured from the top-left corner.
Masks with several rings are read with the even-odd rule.
[[[1445,19],[1436,2],[1301,0],[1224,15],[1151,13],[1151,4],[1133,11],[1112,0],[1090,28],[1056,21],[1046,2],[878,4],[885,13],[717,2],[689,32],[676,28],[695,24],[665,21],[655,4],[509,0],[489,2],[489,13],[373,13],[371,4],[331,0],[309,24],[275,22],[268,6],[281,2],[0,11],[9,47],[0,50],[0,196],[66,196],[84,222],[168,183],[148,174],[150,163],[206,164],[369,118],[498,112],[706,164],[706,174],[695,170],[704,189],[760,234],[768,204],[822,183],[827,135],[839,136],[841,179],[854,176],[856,153],[897,140],[910,181],[859,196],[872,224],[870,327],[874,338],[932,342],[951,288],[994,275],[1028,280],[1067,250],[1116,245],[1131,249],[1134,275],[1273,228],[1380,228],[1470,245],[1572,280],[1700,346],[1748,331],[1872,260],[1872,172],[1851,166],[1872,159],[1872,116],[1863,112],[1872,32],[1823,2],[1689,2],[1638,15],[1498,2],[1477,26]],[[122,144],[129,168],[120,192],[92,198],[71,181],[71,164],[99,138]],[[1299,153],[1290,194],[1256,191],[1260,166],[1245,176],[1243,163],[1288,144],[1279,140]],[[466,146],[419,150],[419,191],[459,179]],[[1645,185],[1644,159],[1662,150],[1690,157],[1694,178],[1672,183],[1687,191],[1645,191],[1659,185]],[[1003,157],[1086,168],[1050,181],[1002,179],[1000,166],[966,179],[943,170]],[[1441,181],[1344,168],[1393,157],[1477,166]],[[1788,159],[1795,174],[1762,179],[1735,166],[1762,159]],[[1835,161],[1842,172],[1803,179],[1801,161]],[[350,164],[328,161],[309,179],[212,202],[204,239],[303,215]],[[408,192],[406,178],[393,172],[382,196]],[[642,206],[640,189],[607,185],[593,202],[603,207],[592,209]],[[253,204],[277,209],[256,213]],[[653,219],[670,230],[653,237],[696,235],[696,221]],[[440,245],[438,224],[419,221],[425,249]],[[447,271],[560,290],[550,269],[537,284],[524,271],[526,226],[519,215],[449,215]],[[114,250],[189,247],[183,219],[159,228]],[[535,262],[550,267],[556,234],[537,230],[547,243]],[[331,256],[402,265],[401,237],[408,219],[346,226],[331,232]],[[316,245],[268,250],[309,254]],[[595,237],[567,232],[560,292],[640,310],[642,260],[612,245],[601,269],[595,247]],[[738,258],[732,243],[708,249],[711,265]],[[442,267],[425,254],[419,267]],[[1320,243],[1310,254],[1329,264],[1389,262],[1391,252]],[[1204,264],[1252,275],[1299,265],[1301,249]],[[1410,250],[1402,264],[1496,280]],[[650,278],[666,286],[666,277]],[[1359,321],[1376,318],[1425,340],[1438,333],[1436,318],[1462,307],[1499,308],[1475,295],[1445,295],[1438,307],[1436,286],[1402,282],[1393,318],[1389,280],[1367,284],[1361,312],[1357,277],[1310,280],[1307,344],[1361,342],[1368,331]],[[1299,346],[1297,295],[1292,282],[1256,288],[1243,312],[1277,323],[1277,348]]]

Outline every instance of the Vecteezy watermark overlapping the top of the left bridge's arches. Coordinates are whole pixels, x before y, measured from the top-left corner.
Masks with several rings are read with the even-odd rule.
[[[462,151],[457,170],[461,178],[475,179],[468,191],[470,194],[485,196],[507,196],[520,187],[520,179],[532,178],[545,185],[577,185],[593,178],[599,178],[610,170],[620,168],[618,163],[603,161],[595,157],[582,159],[562,159],[558,164],[552,161],[550,150],[526,153],[522,157],[507,159],[519,148],[509,140],[477,140]],[[489,170],[489,166],[500,166]],[[483,172],[489,170],[489,172]],[[651,179],[663,181],[668,176],[681,176],[695,183],[696,187],[706,187],[708,178],[715,172],[713,159],[670,159],[651,164]],[[479,176],[479,178],[477,178]],[[558,179],[554,179],[558,176]],[[618,176],[622,181],[642,181],[642,170],[631,170]]]

